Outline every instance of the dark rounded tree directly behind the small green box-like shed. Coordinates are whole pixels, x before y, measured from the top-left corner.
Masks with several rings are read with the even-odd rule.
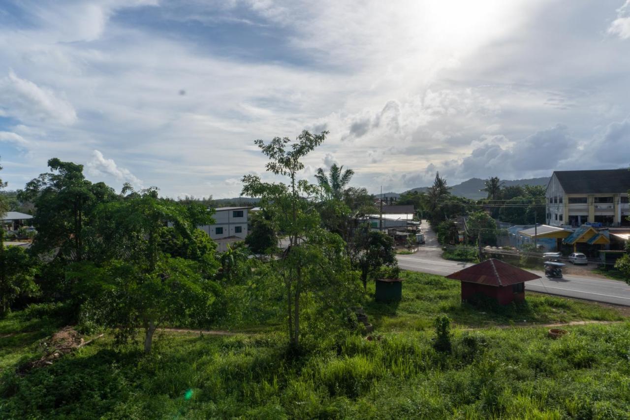
[[[380,231],[370,230],[369,225],[361,225],[352,246],[353,265],[360,271],[363,288],[367,289],[370,276],[380,272],[382,267],[396,269],[396,247],[394,240]]]

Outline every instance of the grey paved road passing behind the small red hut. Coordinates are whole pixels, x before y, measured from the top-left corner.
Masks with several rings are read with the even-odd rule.
[[[423,221],[422,226],[425,228],[428,225]],[[428,228],[423,229],[423,232],[428,238],[427,245],[435,245],[433,233]],[[447,276],[472,264],[443,260],[435,247],[428,246],[420,247],[413,255],[398,255],[398,265],[404,270]],[[564,276],[561,279],[549,279],[544,276],[544,272],[532,272],[541,278],[525,283],[527,290],[630,306],[630,286],[622,281],[574,275]]]

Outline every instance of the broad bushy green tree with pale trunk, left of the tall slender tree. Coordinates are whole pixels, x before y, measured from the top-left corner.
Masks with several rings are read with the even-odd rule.
[[[127,192],[95,212],[98,223],[90,236],[102,241],[103,258],[75,264],[68,277],[88,298],[84,313],[115,329],[120,341],[141,325],[149,353],[159,325],[200,320],[219,293],[207,279],[218,266],[214,245],[195,228],[214,221],[205,207],[160,199],[154,187],[134,191],[125,185]],[[164,228],[167,223],[172,227]]]

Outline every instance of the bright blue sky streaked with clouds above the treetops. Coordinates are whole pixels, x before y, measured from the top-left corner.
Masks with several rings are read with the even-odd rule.
[[[0,177],[237,197],[329,131],[370,192],[630,166],[630,0],[0,0]]]

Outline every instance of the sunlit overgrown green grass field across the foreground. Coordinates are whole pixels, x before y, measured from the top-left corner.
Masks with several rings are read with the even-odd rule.
[[[13,313],[0,321],[0,418],[630,418],[630,322],[620,310],[531,294],[527,305],[475,308],[459,303],[457,282],[403,276],[399,303],[370,293],[363,302],[380,341],[329,335],[299,355],[278,330],[163,334],[150,356],[115,350],[106,335],[17,376],[60,325]],[[438,313],[454,322],[451,353],[432,346]],[[565,327],[558,340],[517,327],[575,320],[621,322]]]

